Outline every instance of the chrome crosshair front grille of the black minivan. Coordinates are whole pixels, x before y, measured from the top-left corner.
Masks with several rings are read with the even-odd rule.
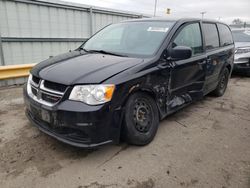
[[[53,106],[61,100],[67,86],[32,76],[29,95],[42,104]]]

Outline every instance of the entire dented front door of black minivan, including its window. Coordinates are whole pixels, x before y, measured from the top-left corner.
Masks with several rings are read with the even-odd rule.
[[[192,49],[192,57],[171,62],[168,112],[190,103],[203,96],[205,81],[206,54],[200,22],[186,23],[181,26],[170,43],[170,48],[187,46]]]

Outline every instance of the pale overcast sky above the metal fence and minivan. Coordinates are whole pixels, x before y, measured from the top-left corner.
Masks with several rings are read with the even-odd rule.
[[[64,0],[86,5],[153,15],[155,0]],[[157,16],[169,18],[201,17],[231,23],[234,18],[250,22],[250,0],[157,0]],[[171,14],[166,15],[166,9]]]

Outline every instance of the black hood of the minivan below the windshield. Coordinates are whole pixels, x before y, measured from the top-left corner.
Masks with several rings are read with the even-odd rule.
[[[31,73],[64,85],[95,84],[142,62],[139,58],[72,51],[37,64]]]

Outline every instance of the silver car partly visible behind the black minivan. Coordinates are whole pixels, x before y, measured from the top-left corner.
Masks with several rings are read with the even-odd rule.
[[[250,76],[250,29],[233,29],[235,41],[234,73]]]

